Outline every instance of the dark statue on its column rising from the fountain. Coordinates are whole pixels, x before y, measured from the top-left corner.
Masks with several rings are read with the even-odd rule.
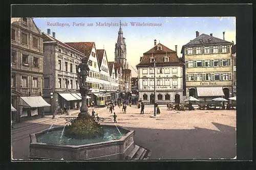
[[[86,79],[90,71],[90,68],[87,62],[88,62],[88,59],[86,57],[83,57],[82,62],[76,68],[77,82],[79,85],[80,93],[82,95],[82,105],[81,105],[80,113],[78,114],[78,117],[81,117],[81,116],[84,117],[89,115],[86,100],[87,100],[87,94],[88,94],[88,91],[90,91],[90,88],[86,86]]]

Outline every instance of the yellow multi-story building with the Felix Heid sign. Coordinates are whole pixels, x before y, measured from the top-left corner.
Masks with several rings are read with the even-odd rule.
[[[182,47],[184,92],[201,101],[232,94],[233,64],[231,44],[223,39],[196,32],[196,38]]]

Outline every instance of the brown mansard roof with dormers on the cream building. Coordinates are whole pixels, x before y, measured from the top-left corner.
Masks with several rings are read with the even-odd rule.
[[[159,45],[162,46],[162,50],[157,50]],[[143,54],[143,57],[137,66],[154,65],[154,63],[150,61],[152,57],[156,57],[156,65],[184,64],[177,56],[176,51],[170,50],[163,44],[158,43],[153,48],[151,48],[151,50]],[[165,57],[169,58],[168,62],[164,62]]]

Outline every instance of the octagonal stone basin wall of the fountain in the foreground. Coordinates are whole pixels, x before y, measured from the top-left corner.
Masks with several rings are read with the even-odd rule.
[[[104,127],[113,127],[103,125]],[[37,142],[36,135],[54,131],[44,130],[38,133],[30,134],[30,153],[31,159],[53,159],[53,160],[118,160],[125,159],[135,148],[135,131],[117,126],[118,129],[124,129],[127,133],[118,140],[110,140],[82,145],[58,145],[50,143]],[[61,128],[62,129],[62,128]]]

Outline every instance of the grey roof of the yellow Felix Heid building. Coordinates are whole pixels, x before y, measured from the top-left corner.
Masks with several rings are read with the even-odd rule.
[[[201,41],[200,41],[201,39]],[[209,40],[211,39],[211,40]],[[232,42],[220,39],[220,38],[216,38],[214,36],[210,36],[207,34],[201,34],[198,37],[196,37],[194,40],[188,42],[187,44],[185,44],[184,46],[196,46],[199,44],[232,44]]]

